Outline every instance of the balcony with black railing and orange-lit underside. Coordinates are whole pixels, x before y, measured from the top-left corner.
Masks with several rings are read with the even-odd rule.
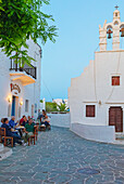
[[[11,60],[10,76],[13,81],[21,80],[23,86],[27,86],[36,82],[36,69],[33,65],[28,66],[27,64],[21,67],[21,64],[15,64]]]

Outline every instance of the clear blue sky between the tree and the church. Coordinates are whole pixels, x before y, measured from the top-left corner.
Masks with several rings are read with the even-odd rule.
[[[94,60],[99,44],[99,25],[112,22],[119,4],[124,21],[122,0],[51,0],[44,12],[53,15],[59,28],[57,42],[42,48],[41,98],[67,98],[71,78],[79,76]]]

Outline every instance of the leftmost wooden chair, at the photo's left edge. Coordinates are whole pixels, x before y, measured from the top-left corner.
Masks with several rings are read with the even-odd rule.
[[[2,143],[2,139],[4,140],[4,146],[8,145],[8,140],[11,141],[11,146],[13,147],[13,137],[7,136],[5,128],[0,128],[0,142]]]

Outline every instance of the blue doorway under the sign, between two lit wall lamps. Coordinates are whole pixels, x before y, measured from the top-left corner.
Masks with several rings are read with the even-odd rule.
[[[14,116],[15,119],[17,120],[18,118],[18,97],[17,96],[12,96],[12,111],[11,111],[11,116]]]

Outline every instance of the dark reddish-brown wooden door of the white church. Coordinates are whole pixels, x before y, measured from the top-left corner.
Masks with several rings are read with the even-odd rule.
[[[110,107],[109,126],[115,126],[115,132],[123,132],[123,109],[122,107]]]

